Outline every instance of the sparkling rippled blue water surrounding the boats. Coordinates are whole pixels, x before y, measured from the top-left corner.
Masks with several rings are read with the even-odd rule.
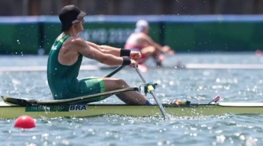
[[[253,53],[177,54],[166,57],[164,66],[185,63],[262,64],[263,58]],[[0,56],[3,66],[46,65],[47,56]],[[147,64],[154,66],[152,60]],[[83,64],[96,64],[84,59]],[[81,71],[79,78],[104,76],[111,70]],[[157,82],[156,93],[165,103],[173,99],[208,103],[219,93],[220,102],[263,102],[262,70],[157,69],[143,76]],[[124,69],[115,78],[125,79],[130,86],[142,83],[136,72]],[[0,95],[52,99],[45,71],[0,72]],[[150,95],[147,98],[153,101]],[[122,103],[116,96],[101,103]],[[197,117],[129,117],[106,115],[93,118],[35,119],[36,128],[13,128],[14,119],[0,120],[0,145],[262,145],[263,116],[216,115]]]

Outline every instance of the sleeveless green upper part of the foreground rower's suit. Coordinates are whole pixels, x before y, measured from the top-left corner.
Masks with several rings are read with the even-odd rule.
[[[70,35],[63,36],[59,41],[56,39],[49,52],[47,78],[54,99],[68,98],[68,91],[74,89],[74,85],[78,83],[77,77],[83,56],[80,54],[78,60],[70,66],[58,62],[59,50],[68,37]]]

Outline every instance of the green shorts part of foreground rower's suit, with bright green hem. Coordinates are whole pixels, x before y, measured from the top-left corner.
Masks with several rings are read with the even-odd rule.
[[[92,95],[92,94],[98,94],[105,91],[103,80],[100,78],[84,78],[78,80],[76,85],[72,85],[70,87],[70,91],[67,92],[67,99],[80,97],[80,96],[86,96],[86,95]],[[100,97],[94,97],[88,100],[85,100],[83,102],[80,102],[81,104],[91,103],[91,102],[97,102],[100,100],[103,100],[107,98],[108,96],[100,96]]]

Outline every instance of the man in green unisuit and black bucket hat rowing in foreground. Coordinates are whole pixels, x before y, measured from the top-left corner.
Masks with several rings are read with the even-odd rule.
[[[134,59],[123,56],[135,59],[141,57],[140,52],[98,46],[79,37],[78,33],[83,31],[85,14],[74,5],[65,6],[60,11],[62,33],[51,47],[47,65],[48,84],[54,99],[70,99],[129,87],[122,79],[100,77],[77,79],[83,56],[111,66],[134,66],[137,65]],[[136,91],[122,92],[116,96],[127,104],[151,104]],[[107,97],[92,98],[85,103],[100,101]]]

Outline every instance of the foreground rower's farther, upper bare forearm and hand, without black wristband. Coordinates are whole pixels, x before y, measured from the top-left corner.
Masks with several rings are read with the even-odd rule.
[[[114,55],[114,56],[117,56],[119,57],[120,56],[120,51],[121,49],[120,48],[115,48],[115,47],[110,47],[110,46],[105,46],[105,45],[97,45],[95,43],[92,43],[92,42],[88,42],[86,41],[87,44],[97,50],[99,50],[100,52],[102,53],[105,53],[105,54],[111,54],[111,55]],[[130,53],[130,57],[134,57],[134,58],[141,58],[142,55],[140,52],[137,52],[137,51],[131,51]]]

